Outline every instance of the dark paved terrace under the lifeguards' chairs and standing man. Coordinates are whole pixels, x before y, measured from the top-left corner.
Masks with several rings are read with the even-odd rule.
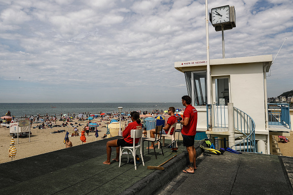
[[[140,163],[135,170],[134,164],[126,163],[126,155],[121,167],[119,162],[102,164],[110,139],[114,138],[1,163],[0,195],[293,194],[291,157],[228,152],[206,157],[198,147],[203,142],[196,141],[198,170],[184,174],[188,158],[180,141],[177,153],[164,149],[164,156],[158,155],[157,160],[153,151],[148,155],[145,149],[146,166]],[[147,169],[175,155],[163,165],[165,170]]]

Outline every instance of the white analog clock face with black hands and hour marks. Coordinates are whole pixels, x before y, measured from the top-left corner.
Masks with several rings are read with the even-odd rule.
[[[230,21],[229,5],[212,9],[212,24],[222,24]]]

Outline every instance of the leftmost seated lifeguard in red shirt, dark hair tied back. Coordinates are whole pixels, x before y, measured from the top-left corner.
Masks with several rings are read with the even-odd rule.
[[[112,159],[113,161],[119,161],[119,153],[120,153],[120,146],[133,146],[133,138],[131,138],[131,130],[140,130],[142,129],[142,124],[140,120],[140,114],[138,112],[131,112],[130,113],[132,123],[129,123],[128,126],[123,130],[122,139],[115,139],[107,142],[107,161],[103,162],[103,164],[110,164],[110,157],[112,149],[111,147],[116,147],[116,158]],[[139,142],[140,138],[135,139],[135,143]]]

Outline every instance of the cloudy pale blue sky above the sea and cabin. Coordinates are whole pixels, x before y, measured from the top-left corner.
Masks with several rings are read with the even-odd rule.
[[[267,95],[293,89],[293,1],[234,5],[225,58],[276,57]],[[180,102],[175,62],[206,60],[205,0],[0,0],[0,102]],[[209,22],[210,59],[222,58]]]

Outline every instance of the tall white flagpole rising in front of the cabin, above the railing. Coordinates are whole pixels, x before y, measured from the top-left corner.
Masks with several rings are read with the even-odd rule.
[[[211,104],[211,69],[210,69],[210,45],[209,45],[209,17],[208,0],[206,0],[206,35],[207,35],[207,100]]]

